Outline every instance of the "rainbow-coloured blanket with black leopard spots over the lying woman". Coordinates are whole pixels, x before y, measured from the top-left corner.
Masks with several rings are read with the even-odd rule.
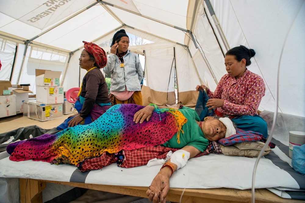
[[[187,119],[174,109],[155,109],[149,121],[133,122],[135,113],[144,108],[135,104],[117,104],[88,125],[67,128],[55,135],[41,135],[10,144],[12,161],[45,161],[77,165],[81,160],[99,157],[103,152],[140,149],[167,142]],[[183,133],[183,132],[181,132]],[[64,160],[64,161],[63,161]],[[62,162],[61,162],[62,161]]]

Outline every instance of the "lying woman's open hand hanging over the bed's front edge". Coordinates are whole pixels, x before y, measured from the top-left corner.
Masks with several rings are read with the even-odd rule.
[[[171,170],[168,167],[159,171],[146,191],[149,201],[153,203],[166,202],[166,196],[170,190],[170,175]]]

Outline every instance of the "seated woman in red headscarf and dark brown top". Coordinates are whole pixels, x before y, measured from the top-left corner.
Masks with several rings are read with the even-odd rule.
[[[74,108],[78,111],[68,117],[57,130],[63,130],[78,124],[90,124],[111,107],[108,89],[100,68],[107,64],[106,52],[92,42],[85,42],[79,58],[79,65],[87,70]]]

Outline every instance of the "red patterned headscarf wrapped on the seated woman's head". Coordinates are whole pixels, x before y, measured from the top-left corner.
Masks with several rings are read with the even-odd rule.
[[[99,68],[104,68],[107,64],[106,52],[101,47],[92,42],[83,41],[83,43],[84,50],[94,57],[95,63],[99,66]]]

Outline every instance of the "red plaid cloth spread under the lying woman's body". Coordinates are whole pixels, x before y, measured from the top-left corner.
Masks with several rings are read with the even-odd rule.
[[[179,149],[161,147],[160,145],[157,145],[155,147],[143,147],[141,149],[134,149],[131,151],[123,150],[123,155],[125,156],[125,158],[121,167],[131,168],[136,166],[143,166],[146,165],[149,160],[154,158],[165,159],[169,151],[175,152],[177,150]],[[203,156],[211,152],[221,153],[217,142],[210,142],[207,149],[204,152],[199,153],[195,157]],[[100,157],[92,157],[82,160],[80,163],[77,164],[77,167],[80,171],[85,172],[88,170],[101,169],[103,166],[108,166],[115,162],[116,160],[114,155],[106,152],[103,153]]]

